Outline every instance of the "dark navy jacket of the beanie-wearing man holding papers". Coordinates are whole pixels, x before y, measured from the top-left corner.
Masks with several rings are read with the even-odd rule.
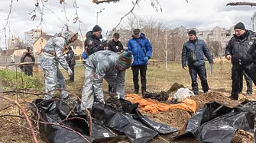
[[[196,54],[196,61],[193,62],[193,61],[190,61],[190,59],[188,58],[188,53],[193,52],[195,50],[195,47],[196,47],[196,51],[194,53]],[[205,65],[205,60],[203,55],[206,56],[209,63],[213,63],[212,55],[209,52],[209,49],[206,46],[205,41],[198,40],[197,38],[196,40],[189,40],[183,44],[181,55],[182,55],[182,58],[181,58],[182,67],[186,66],[186,62],[188,62],[188,65],[194,65],[194,66]]]

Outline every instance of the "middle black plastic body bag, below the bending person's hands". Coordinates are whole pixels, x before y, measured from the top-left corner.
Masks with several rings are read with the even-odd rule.
[[[106,102],[108,103],[108,101]],[[120,103],[125,106],[130,102],[122,100]],[[142,116],[137,109],[130,110],[130,113],[120,112],[120,108],[118,110],[119,112],[113,110],[112,106],[95,103],[92,106],[92,116],[105,126],[127,135],[129,140],[134,143],[150,141],[159,133],[168,134],[178,131]]]

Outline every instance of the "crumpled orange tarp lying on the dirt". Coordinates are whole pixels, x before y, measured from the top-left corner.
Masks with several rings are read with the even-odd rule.
[[[139,108],[143,111],[150,113],[157,113],[161,111],[166,111],[170,109],[180,109],[185,110],[190,113],[196,112],[196,101],[186,98],[182,103],[169,104],[160,103],[157,100],[144,99],[136,94],[126,95],[126,100],[131,101],[131,103],[139,103]]]

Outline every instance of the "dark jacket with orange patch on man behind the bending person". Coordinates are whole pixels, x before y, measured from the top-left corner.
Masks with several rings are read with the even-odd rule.
[[[87,46],[88,56],[104,49],[104,47],[102,47],[102,42],[99,39],[102,39],[102,37],[96,37],[96,35],[92,34],[92,31],[86,33],[85,46]]]

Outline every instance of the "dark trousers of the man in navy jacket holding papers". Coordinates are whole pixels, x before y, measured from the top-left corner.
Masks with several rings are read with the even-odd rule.
[[[201,80],[201,85],[204,92],[209,90],[208,82],[207,82],[207,75],[206,75],[206,66],[189,66],[190,70],[190,78],[191,78],[191,86],[194,92],[198,92],[198,84],[197,84],[197,75]]]

